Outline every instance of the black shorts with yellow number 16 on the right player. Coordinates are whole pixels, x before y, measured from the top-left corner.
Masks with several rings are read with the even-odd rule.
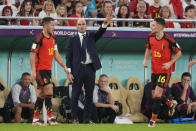
[[[154,90],[156,86],[166,89],[169,83],[170,76],[171,75],[167,73],[152,74],[151,75],[152,90]]]

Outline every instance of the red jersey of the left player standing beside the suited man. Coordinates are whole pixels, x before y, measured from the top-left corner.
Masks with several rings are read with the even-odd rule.
[[[54,36],[45,37],[43,33],[38,35],[32,45],[31,52],[36,53],[36,70],[51,70],[54,51],[57,50]]]

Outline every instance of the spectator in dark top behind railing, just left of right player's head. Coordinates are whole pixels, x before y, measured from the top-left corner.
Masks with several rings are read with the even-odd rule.
[[[134,19],[148,19],[146,15],[146,4],[144,2],[139,2],[137,4],[137,13],[132,17]],[[133,27],[145,28],[150,27],[149,22],[139,22],[134,21]]]

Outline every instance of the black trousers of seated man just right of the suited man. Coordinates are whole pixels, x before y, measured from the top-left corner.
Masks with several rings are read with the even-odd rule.
[[[98,123],[101,123],[103,118],[107,118],[106,123],[114,123],[117,114],[111,108],[96,107],[95,115]]]

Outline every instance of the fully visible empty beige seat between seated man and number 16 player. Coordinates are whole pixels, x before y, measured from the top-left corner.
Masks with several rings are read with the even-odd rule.
[[[147,122],[148,118],[141,113],[144,88],[140,80],[136,77],[130,77],[126,89],[128,92],[127,103],[131,114],[128,118],[133,122]]]

